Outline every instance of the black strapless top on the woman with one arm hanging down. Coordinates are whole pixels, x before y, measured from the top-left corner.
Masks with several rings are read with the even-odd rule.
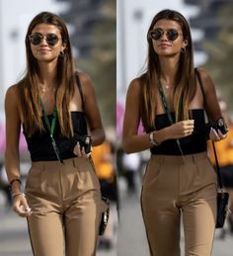
[[[51,124],[52,115],[47,116],[49,123]],[[74,111],[71,112],[71,118],[73,123],[74,132],[81,135],[87,134],[87,122],[85,114],[83,112]],[[24,134],[28,143],[28,148],[31,154],[32,161],[54,161],[57,160],[56,154],[53,150],[49,131],[46,128],[45,122],[42,119],[43,127],[45,131],[35,132],[32,136],[28,136],[24,130]],[[23,126],[24,128],[24,126]],[[71,138],[67,138],[60,135],[60,127],[56,125],[53,137],[57,143],[62,159],[73,158],[76,155],[73,151],[73,141]]]

